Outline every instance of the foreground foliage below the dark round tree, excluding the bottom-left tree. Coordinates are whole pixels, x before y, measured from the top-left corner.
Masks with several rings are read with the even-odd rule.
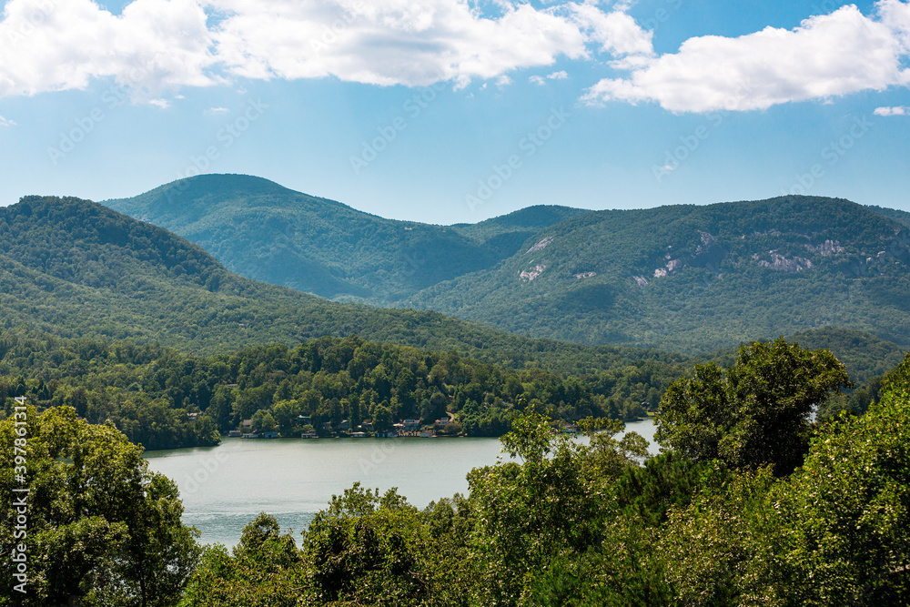
[[[289,555],[268,579],[268,604],[906,604],[910,356],[883,394],[864,416],[816,428],[788,475],[773,461],[736,468],[674,450],[641,466],[640,437],[616,440],[607,423],[582,445],[529,410],[502,438],[517,459],[473,470],[469,497],[420,511],[394,490],[355,485],[299,550],[268,516],[244,535],[270,530],[263,567],[276,546]],[[185,607],[240,604],[214,597],[248,592],[236,573],[248,558],[243,542],[209,549]]]

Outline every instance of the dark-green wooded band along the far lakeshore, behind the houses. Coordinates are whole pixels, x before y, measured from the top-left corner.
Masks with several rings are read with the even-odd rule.
[[[113,421],[153,450],[217,444],[219,433],[264,417],[268,430],[296,438],[304,425],[321,430],[328,422],[326,435],[334,435],[341,420],[353,428],[386,420],[390,428],[404,419],[432,425],[449,414],[456,420],[450,434],[500,436],[526,407],[563,421],[631,420],[656,409],[682,369],[640,359],[565,376],[356,336],[195,357],[124,341],[0,335],[3,416],[19,396],[39,408],[69,405],[91,423]]]

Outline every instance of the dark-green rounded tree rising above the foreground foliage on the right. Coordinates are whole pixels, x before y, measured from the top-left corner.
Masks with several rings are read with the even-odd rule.
[[[833,390],[850,387],[829,350],[753,342],[725,374],[696,365],[695,377],[673,382],[661,400],[655,438],[693,460],[733,468],[771,464],[776,476],[799,466],[809,447],[810,417]]]

